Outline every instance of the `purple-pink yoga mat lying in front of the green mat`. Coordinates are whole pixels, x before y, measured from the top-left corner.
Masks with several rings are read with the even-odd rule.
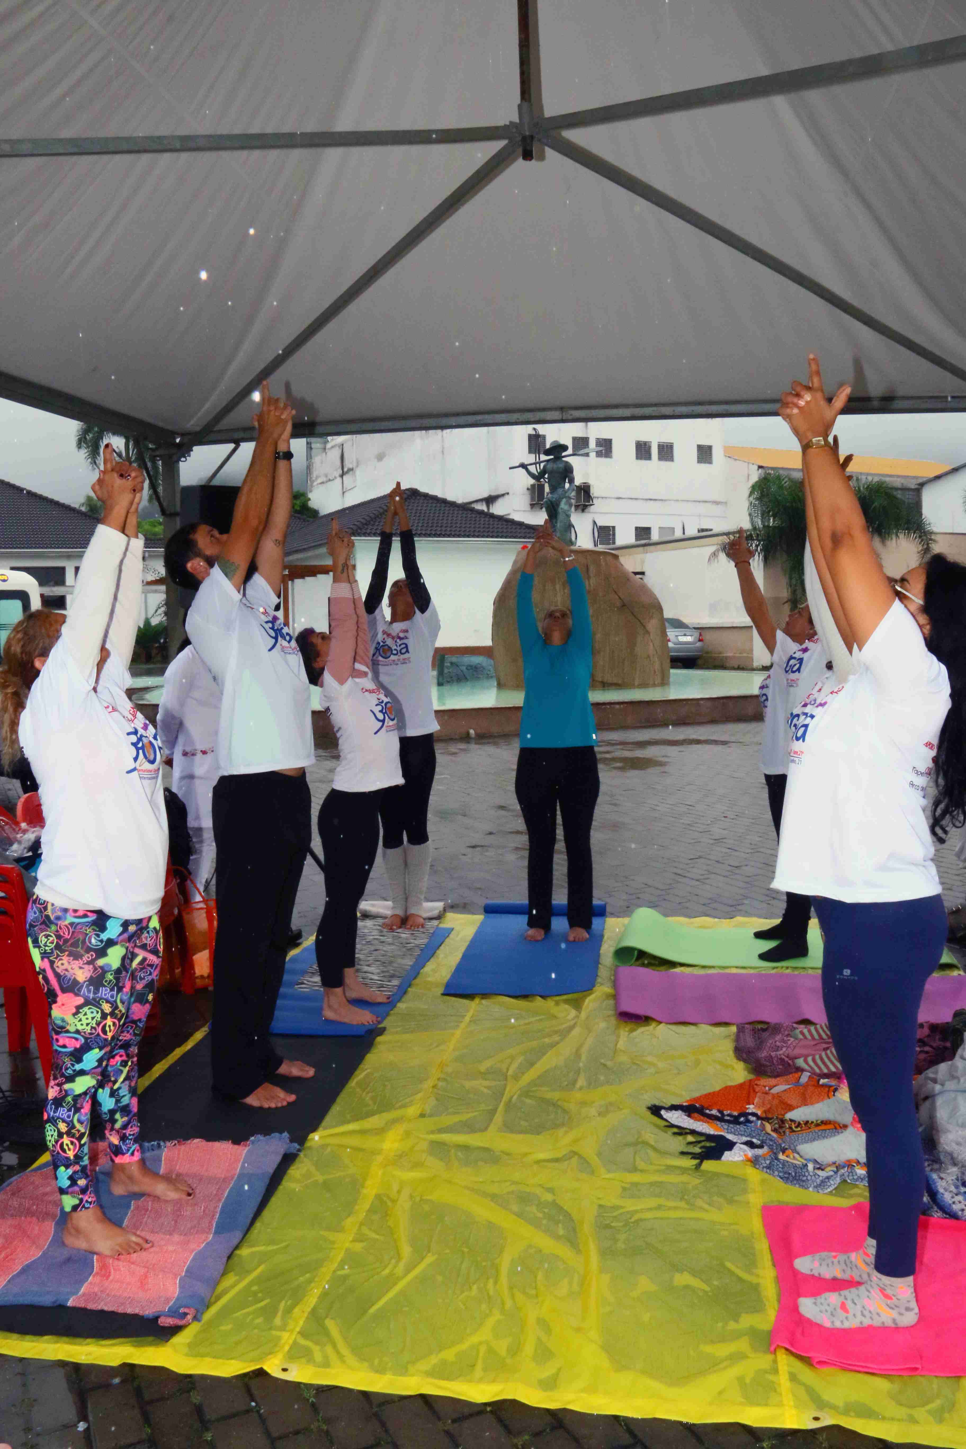
[[[650,971],[617,966],[621,1022],[826,1022],[821,978],[792,971]],[[966,1007],[966,975],[930,977],[920,1022],[949,1022]]]

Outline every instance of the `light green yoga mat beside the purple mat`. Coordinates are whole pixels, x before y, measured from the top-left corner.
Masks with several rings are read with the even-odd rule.
[[[697,926],[684,920],[668,920],[656,910],[642,906],[630,917],[614,946],[616,966],[647,965],[642,958],[652,956],[655,964],[673,962],[678,966],[711,966],[717,971],[768,969],[759,961],[760,952],[773,942],[756,940],[753,926]],[[956,958],[943,953],[943,965],[956,966]],[[808,955],[782,962],[776,971],[820,971],[821,935],[817,926],[808,932]],[[957,968],[959,969],[959,968]]]

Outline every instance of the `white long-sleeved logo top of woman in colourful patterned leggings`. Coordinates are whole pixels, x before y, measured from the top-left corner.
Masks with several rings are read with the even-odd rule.
[[[20,716],[45,822],[36,894],[119,920],[154,916],[168,864],[161,745],[125,694],[142,555],[140,539],[97,527],[61,638]],[[104,636],[110,655],[96,684]]]

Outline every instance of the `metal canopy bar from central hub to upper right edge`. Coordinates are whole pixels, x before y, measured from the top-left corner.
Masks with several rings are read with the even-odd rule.
[[[559,116],[546,116],[542,125],[547,130],[605,126],[616,120],[640,120],[647,116],[669,116],[682,110],[707,110],[711,106],[731,106],[736,101],[763,100],[769,96],[799,96],[802,91],[820,90],[826,85],[847,85],[850,81],[875,80],[878,75],[899,75],[904,71],[923,71],[956,61],[966,61],[966,35],[953,35],[946,41],[928,41],[925,45],[904,45],[898,51],[876,51],[875,55],[856,55],[846,61],[827,61],[823,65],[802,65],[794,71],[749,75],[746,80],[723,81],[717,85],[698,85],[694,90],[671,91],[666,96],[644,96],[642,100],[617,101],[614,106],[569,110]]]

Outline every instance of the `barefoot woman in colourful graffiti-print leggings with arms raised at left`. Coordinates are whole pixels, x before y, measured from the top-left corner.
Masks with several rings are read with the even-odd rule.
[[[107,446],[93,485],[104,513],[70,616],[25,614],[0,671],[3,751],[29,755],[45,816],[28,940],[51,1006],[45,1136],[67,1213],[64,1245],[110,1258],[149,1242],[98,1207],[88,1161],[94,1097],[110,1191],[191,1197],[184,1178],[151,1172],[138,1143],[138,1043],[161,965],[168,858],[158,736],[125,694],[140,611],[142,490],[143,474],[114,462]]]

